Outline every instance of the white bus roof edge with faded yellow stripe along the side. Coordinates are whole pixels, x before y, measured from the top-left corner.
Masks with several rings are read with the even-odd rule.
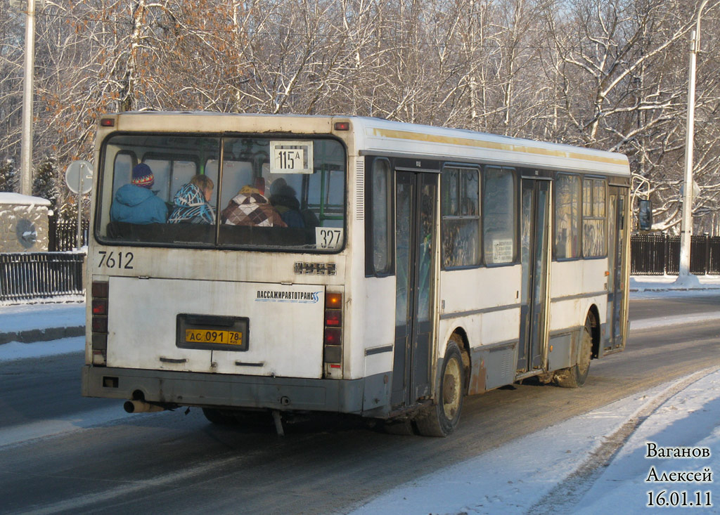
[[[117,116],[111,115],[111,116]],[[155,122],[156,117],[194,117],[198,123],[174,124],[176,127],[212,127],[212,131],[237,130],[238,117],[251,122],[249,130],[258,132],[305,132],[342,135],[333,129],[333,122],[348,120],[354,134],[356,152],[360,154],[406,155],[413,158],[456,160],[485,164],[514,165],[560,171],[608,173],[629,176],[628,159],[623,154],[575,147],[559,143],[523,140],[516,137],[492,135],[467,129],[449,129],[429,125],[391,122],[371,117],[318,116],[303,114],[235,114],[208,111],[143,111],[120,114],[131,118],[134,128],[142,119]],[[210,122],[212,119],[212,122]],[[278,124],[276,120],[286,123]],[[128,120],[129,121],[129,120]],[[116,129],[127,128],[121,120]],[[154,123],[152,123],[155,125]],[[140,123],[140,125],[145,125]],[[146,127],[148,128],[148,127]],[[243,123],[246,129],[246,123]],[[186,130],[186,129],[185,129]]]

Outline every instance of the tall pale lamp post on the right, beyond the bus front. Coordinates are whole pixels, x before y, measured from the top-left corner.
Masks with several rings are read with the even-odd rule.
[[[700,51],[700,17],[708,0],[698,7],[696,28],[690,32],[690,73],[688,76],[688,127],[685,131],[685,181],[683,191],[683,219],[680,223],[680,275],[678,282],[690,276],[690,240],[693,236],[693,138],[695,136],[695,73]],[[695,278],[697,281],[697,278]]]

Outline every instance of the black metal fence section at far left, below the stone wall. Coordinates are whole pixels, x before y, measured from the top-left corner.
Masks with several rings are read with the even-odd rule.
[[[0,254],[0,301],[77,295],[83,289],[84,254]]]

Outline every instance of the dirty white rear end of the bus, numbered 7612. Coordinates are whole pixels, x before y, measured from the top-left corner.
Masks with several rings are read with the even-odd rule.
[[[127,113],[100,125],[84,396],[135,411],[360,413],[361,381],[343,380],[348,123]],[[112,209],[140,163],[169,222]],[[171,223],[198,175],[212,181],[214,221]],[[230,216],[253,199],[271,216]]]

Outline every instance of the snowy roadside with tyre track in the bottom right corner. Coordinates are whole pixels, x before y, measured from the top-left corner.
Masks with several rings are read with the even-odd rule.
[[[646,479],[651,467],[659,477],[678,470],[720,470],[719,420],[720,370],[703,370],[426,475],[350,513],[636,513],[647,509],[650,491],[656,506],[669,502],[667,495],[655,498],[663,490],[686,492],[688,503],[700,492],[704,503],[712,483]],[[634,429],[638,421],[625,435],[623,429],[628,424]],[[645,457],[647,442],[714,452],[698,459],[651,459]]]

